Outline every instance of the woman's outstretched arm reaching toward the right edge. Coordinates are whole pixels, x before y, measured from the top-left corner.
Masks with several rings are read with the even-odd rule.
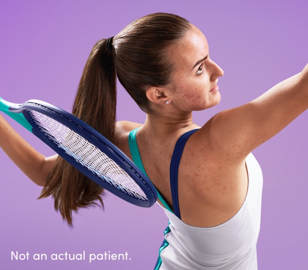
[[[252,102],[216,114],[204,129],[216,151],[236,161],[275,136],[307,108],[308,65]]]

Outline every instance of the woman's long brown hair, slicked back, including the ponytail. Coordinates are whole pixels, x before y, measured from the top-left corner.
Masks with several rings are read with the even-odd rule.
[[[106,39],[98,41],[84,68],[72,113],[112,142],[117,76],[140,108],[151,113],[145,90],[169,83],[172,64],[166,48],[181,41],[189,28],[189,22],[180,16],[155,13],[139,18],[114,36],[111,51]],[[72,211],[91,205],[103,207],[103,191],[59,157],[39,198],[51,195],[55,209],[71,226]]]

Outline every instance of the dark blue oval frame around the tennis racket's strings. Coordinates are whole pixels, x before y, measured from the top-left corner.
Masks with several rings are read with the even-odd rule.
[[[57,152],[62,158],[68,161],[76,169],[81,171],[89,179],[102,186],[103,188],[109,190],[114,195],[120,197],[121,199],[141,206],[150,207],[157,201],[157,191],[155,186],[151,181],[145,176],[145,174],[123,153],[117,146],[112,144],[107,140],[101,133],[90,127],[88,124],[75,117],[71,113],[56,107],[52,104],[40,101],[40,100],[29,100],[24,104],[16,104],[15,107],[10,107],[9,110],[15,113],[23,113],[26,120],[33,127],[33,134],[51,147],[55,152]],[[69,129],[73,130],[75,133],[79,134],[85,138],[89,143],[97,147],[99,150],[104,152],[108,158],[117,163],[143,190],[148,200],[143,200],[134,197],[126,192],[119,190],[108,182],[104,181],[98,175],[91,172],[88,168],[83,166],[81,163],[76,161],[73,157],[69,156],[64,149],[60,148],[49,139],[46,134],[42,131],[42,128],[32,119],[28,110],[33,110],[47,115],[47,117],[63,124]]]

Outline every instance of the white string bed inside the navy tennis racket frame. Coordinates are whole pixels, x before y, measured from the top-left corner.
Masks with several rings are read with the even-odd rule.
[[[103,151],[65,125],[34,110],[28,110],[38,128],[67,155],[103,181],[139,200],[147,201],[140,186]]]

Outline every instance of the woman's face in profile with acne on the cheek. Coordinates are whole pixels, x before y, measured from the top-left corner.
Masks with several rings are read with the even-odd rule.
[[[184,40],[171,45],[167,53],[174,65],[168,86],[172,106],[188,112],[217,105],[221,98],[217,82],[223,70],[210,59],[203,33],[192,25]]]

